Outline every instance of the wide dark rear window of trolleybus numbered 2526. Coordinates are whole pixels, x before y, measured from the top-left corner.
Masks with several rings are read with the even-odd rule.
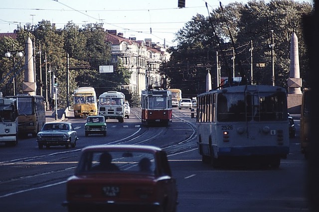
[[[287,120],[286,95],[278,93],[220,93],[219,122]]]

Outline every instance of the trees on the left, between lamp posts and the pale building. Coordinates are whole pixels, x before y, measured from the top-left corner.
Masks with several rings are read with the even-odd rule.
[[[102,24],[86,24],[80,29],[70,21],[63,29],[57,30],[50,21],[42,20],[33,28],[18,28],[15,30],[17,39],[4,38],[0,40],[0,50],[3,52],[0,58],[0,75],[3,82],[0,84],[4,95],[12,95],[11,83],[8,83],[13,75],[10,59],[4,57],[4,53],[14,44],[16,49],[23,50],[25,40],[30,37],[33,41],[35,68],[36,68],[36,94],[45,96],[46,90],[48,97],[51,95],[49,87],[45,87],[45,71],[55,74],[59,83],[58,98],[60,107],[67,105],[67,79],[69,89],[69,105],[72,106],[72,93],[74,89],[82,86],[92,86],[98,93],[108,90],[120,89],[121,85],[128,84],[131,78],[131,71],[126,69],[121,61],[115,66],[113,73],[100,73],[99,66],[111,65],[111,46],[105,42],[106,32]],[[10,50],[12,51],[12,50]],[[40,54],[41,54],[41,74],[40,79]],[[44,67],[44,54],[46,55],[47,70]],[[68,63],[68,66],[67,66]],[[20,69],[23,61],[15,64],[16,69]],[[67,71],[67,67],[69,71]],[[10,72],[11,71],[11,72]],[[47,82],[50,77],[47,72]],[[68,73],[68,75],[67,75]],[[5,78],[5,76],[8,77]],[[5,78],[5,79],[4,79]],[[17,93],[22,93],[22,82],[24,81],[24,70],[16,77]],[[42,83],[40,83],[42,82]],[[43,84],[43,87],[40,85]]]

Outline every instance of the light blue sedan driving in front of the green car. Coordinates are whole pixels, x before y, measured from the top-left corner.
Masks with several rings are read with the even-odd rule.
[[[42,149],[44,145],[47,148],[58,145],[64,145],[66,148],[75,147],[77,140],[77,133],[68,122],[45,123],[36,139],[39,149]]]

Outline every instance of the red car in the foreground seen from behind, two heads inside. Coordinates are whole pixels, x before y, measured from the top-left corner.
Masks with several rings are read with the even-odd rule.
[[[176,212],[176,180],[166,152],[147,145],[85,147],[66,182],[69,212]]]

